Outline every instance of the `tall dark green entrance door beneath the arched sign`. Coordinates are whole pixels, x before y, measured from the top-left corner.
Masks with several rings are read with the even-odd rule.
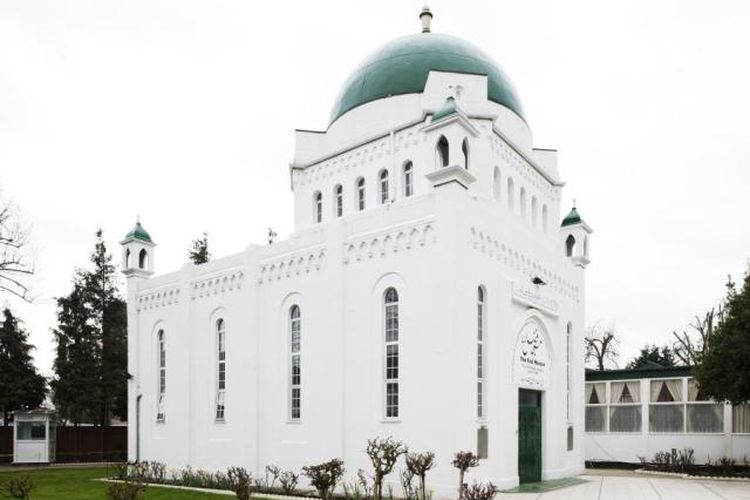
[[[542,404],[541,393],[519,394],[518,405],[518,478],[522,483],[542,480]]]

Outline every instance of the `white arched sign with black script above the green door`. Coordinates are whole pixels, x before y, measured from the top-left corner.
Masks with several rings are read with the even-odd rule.
[[[516,342],[513,358],[513,379],[519,387],[544,390],[549,387],[549,352],[542,327],[527,321]]]

